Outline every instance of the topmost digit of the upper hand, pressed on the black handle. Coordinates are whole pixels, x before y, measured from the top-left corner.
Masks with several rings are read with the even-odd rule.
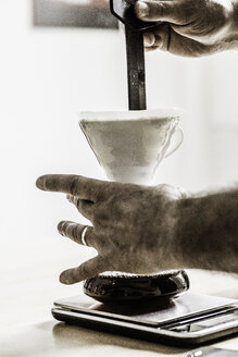
[[[147,22],[170,22],[177,25],[186,23],[185,11],[177,1],[140,0],[135,3],[138,19]]]

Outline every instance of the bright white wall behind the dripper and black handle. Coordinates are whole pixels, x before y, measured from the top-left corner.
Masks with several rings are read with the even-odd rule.
[[[35,188],[43,173],[104,177],[75,113],[125,109],[120,32],[33,28],[27,0],[0,3],[1,239],[55,236],[78,220],[64,197]],[[183,147],[156,181],[191,190],[238,181],[238,52],[204,59],[147,54],[149,108],[181,107]],[[33,233],[33,227],[36,231]]]

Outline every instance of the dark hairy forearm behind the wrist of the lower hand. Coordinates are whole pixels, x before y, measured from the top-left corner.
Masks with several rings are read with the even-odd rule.
[[[238,188],[178,201],[178,264],[238,273]]]

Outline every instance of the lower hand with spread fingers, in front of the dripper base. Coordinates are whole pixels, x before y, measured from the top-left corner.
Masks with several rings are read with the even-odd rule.
[[[176,202],[185,194],[170,185],[145,187],[86,178],[77,175],[45,175],[37,187],[67,194],[67,199],[91,221],[87,245],[98,256],[64,271],[60,281],[74,284],[103,271],[154,273],[176,267],[173,230]],[[78,244],[84,225],[63,221],[59,232]]]

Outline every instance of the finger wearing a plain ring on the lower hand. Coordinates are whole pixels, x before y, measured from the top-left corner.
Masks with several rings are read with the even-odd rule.
[[[63,235],[64,237],[68,237],[70,239],[74,241],[75,243],[85,245],[82,241],[82,234],[85,230],[86,225],[78,224],[71,221],[61,221],[58,224],[58,232]],[[87,226],[87,231],[85,233],[85,242],[87,246],[93,247],[95,239],[93,239],[93,227]]]

